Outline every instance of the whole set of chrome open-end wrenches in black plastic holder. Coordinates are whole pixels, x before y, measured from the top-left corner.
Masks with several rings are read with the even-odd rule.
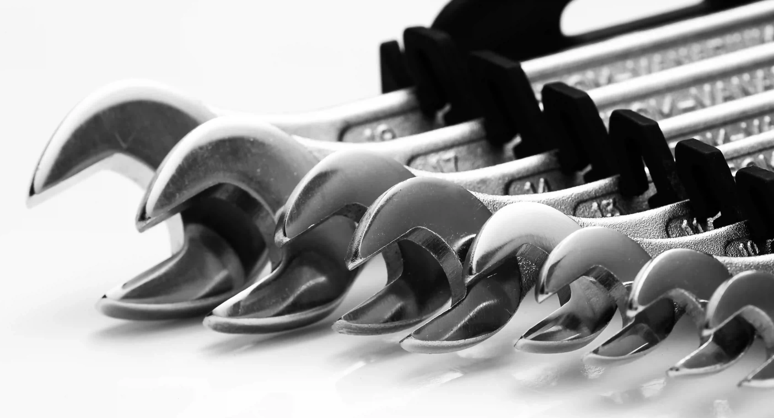
[[[108,290],[111,317],[286,331],[381,254],[387,283],[335,331],[458,351],[534,288],[560,307],[517,350],[632,361],[687,314],[701,345],[670,376],[760,337],[769,358],[740,385],[774,386],[774,0],[576,37],[568,2],[452,0],[382,44],[381,96],[302,115],[111,84],[53,133],[29,200],[104,166],[146,190],[137,226],[165,222],[173,255]]]

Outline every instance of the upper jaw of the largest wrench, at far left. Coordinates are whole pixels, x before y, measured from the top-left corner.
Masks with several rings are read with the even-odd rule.
[[[160,84],[109,84],[80,101],[60,122],[36,166],[28,206],[101,168],[145,188],[170,149],[214,116],[200,102]],[[115,159],[118,155],[135,163]]]

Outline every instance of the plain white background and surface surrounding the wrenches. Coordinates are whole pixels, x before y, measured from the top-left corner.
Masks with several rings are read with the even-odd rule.
[[[100,173],[25,207],[46,139],[109,81],[152,78],[262,113],[351,101],[378,94],[378,43],[429,24],[443,3],[0,2],[0,415],[771,416],[774,392],[735,388],[763,360],[757,345],[720,375],[665,379],[697,344],[687,321],[656,353],[609,369],[585,367],[580,352],[513,351],[515,337],[555,307],[531,298],[495,338],[448,355],[404,352],[402,334],[330,331],[382,286],[381,260],[334,316],[286,334],[102,317],[93,305],[105,290],[167,255],[163,228],[134,229],[140,190]],[[605,335],[618,327],[616,319]]]

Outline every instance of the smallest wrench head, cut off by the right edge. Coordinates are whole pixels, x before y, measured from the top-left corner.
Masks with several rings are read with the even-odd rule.
[[[738,383],[754,388],[774,387],[774,275],[762,271],[738,273],[725,281],[707,303],[702,333],[711,337],[734,319],[750,325],[762,338],[766,361]]]

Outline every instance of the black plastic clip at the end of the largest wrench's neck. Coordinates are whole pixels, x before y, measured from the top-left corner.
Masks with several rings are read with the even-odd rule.
[[[424,27],[403,32],[406,64],[425,115],[435,115],[446,105],[448,124],[465,122],[481,115],[467,66],[447,33]]]

